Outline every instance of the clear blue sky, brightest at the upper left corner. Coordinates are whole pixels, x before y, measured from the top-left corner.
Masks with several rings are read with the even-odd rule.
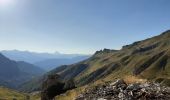
[[[170,0],[0,0],[0,50],[92,54],[170,29]]]

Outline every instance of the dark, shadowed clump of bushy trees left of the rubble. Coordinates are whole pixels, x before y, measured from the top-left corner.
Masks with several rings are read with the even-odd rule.
[[[62,82],[58,74],[49,75],[42,85],[41,100],[53,100],[55,96],[73,88],[75,88],[73,80]]]

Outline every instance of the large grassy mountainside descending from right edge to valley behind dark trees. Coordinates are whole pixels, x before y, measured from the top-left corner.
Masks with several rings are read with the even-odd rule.
[[[170,86],[170,30],[125,45],[121,50],[97,51],[84,61],[55,68],[20,89],[30,91],[27,87],[33,84],[38,84],[35,89],[40,89],[43,78],[51,74],[59,74],[63,80],[74,79],[77,87],[117,78],[129,77],[130,80],[131,76]]]

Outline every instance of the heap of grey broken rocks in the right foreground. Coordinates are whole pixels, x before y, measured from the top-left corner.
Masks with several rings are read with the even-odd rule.
[[[126,84],[117,80],[88,89],[76,100],[170,100],[170,87],[157,83]]]

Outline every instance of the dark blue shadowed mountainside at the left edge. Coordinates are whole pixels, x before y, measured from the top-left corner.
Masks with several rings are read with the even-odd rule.
[[[45,71],[26,62],[10,60],[0,54],[0,86],[17,88],[24,82],[42,75]]]

